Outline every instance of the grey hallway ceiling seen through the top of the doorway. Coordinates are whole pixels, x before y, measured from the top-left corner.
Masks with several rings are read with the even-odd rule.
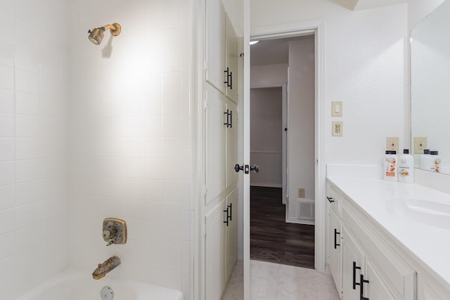
[[[289,42],[299,39],[314,39],[314,35],[269,39],[250,46],[250,65],[275,65],[289,63]]]

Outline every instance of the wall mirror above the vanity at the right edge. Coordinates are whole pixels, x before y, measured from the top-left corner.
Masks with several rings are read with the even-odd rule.
[[[450,174],[450,1],[444,1],[411,31],[411,146],[426,137],[438,150],[440,173]]]

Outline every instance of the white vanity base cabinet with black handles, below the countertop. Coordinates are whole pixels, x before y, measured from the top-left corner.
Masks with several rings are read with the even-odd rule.
[[[335,200],[329,204],[329,265],[342,299],[416,300],[416,270],[390,247],[352,200],[330,185],[327,193],[329,202]],[[341,256],[335,247],[338,243]]]

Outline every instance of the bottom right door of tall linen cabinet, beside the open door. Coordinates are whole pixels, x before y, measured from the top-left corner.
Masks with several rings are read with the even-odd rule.
[[[238,260],[238,192],[235,189],[226,196],[226,207],[229,209],[229,223],[226,227],[226,280],[227,281]]]

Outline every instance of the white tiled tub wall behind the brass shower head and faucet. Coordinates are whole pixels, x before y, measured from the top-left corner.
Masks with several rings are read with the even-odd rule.
[[[193,199],[190,1],[75,1],[70,105],[71,262],[191,296]],[[120,22],[91,44],[86,31]],[[105,247],[102,221],[129,240]]]

